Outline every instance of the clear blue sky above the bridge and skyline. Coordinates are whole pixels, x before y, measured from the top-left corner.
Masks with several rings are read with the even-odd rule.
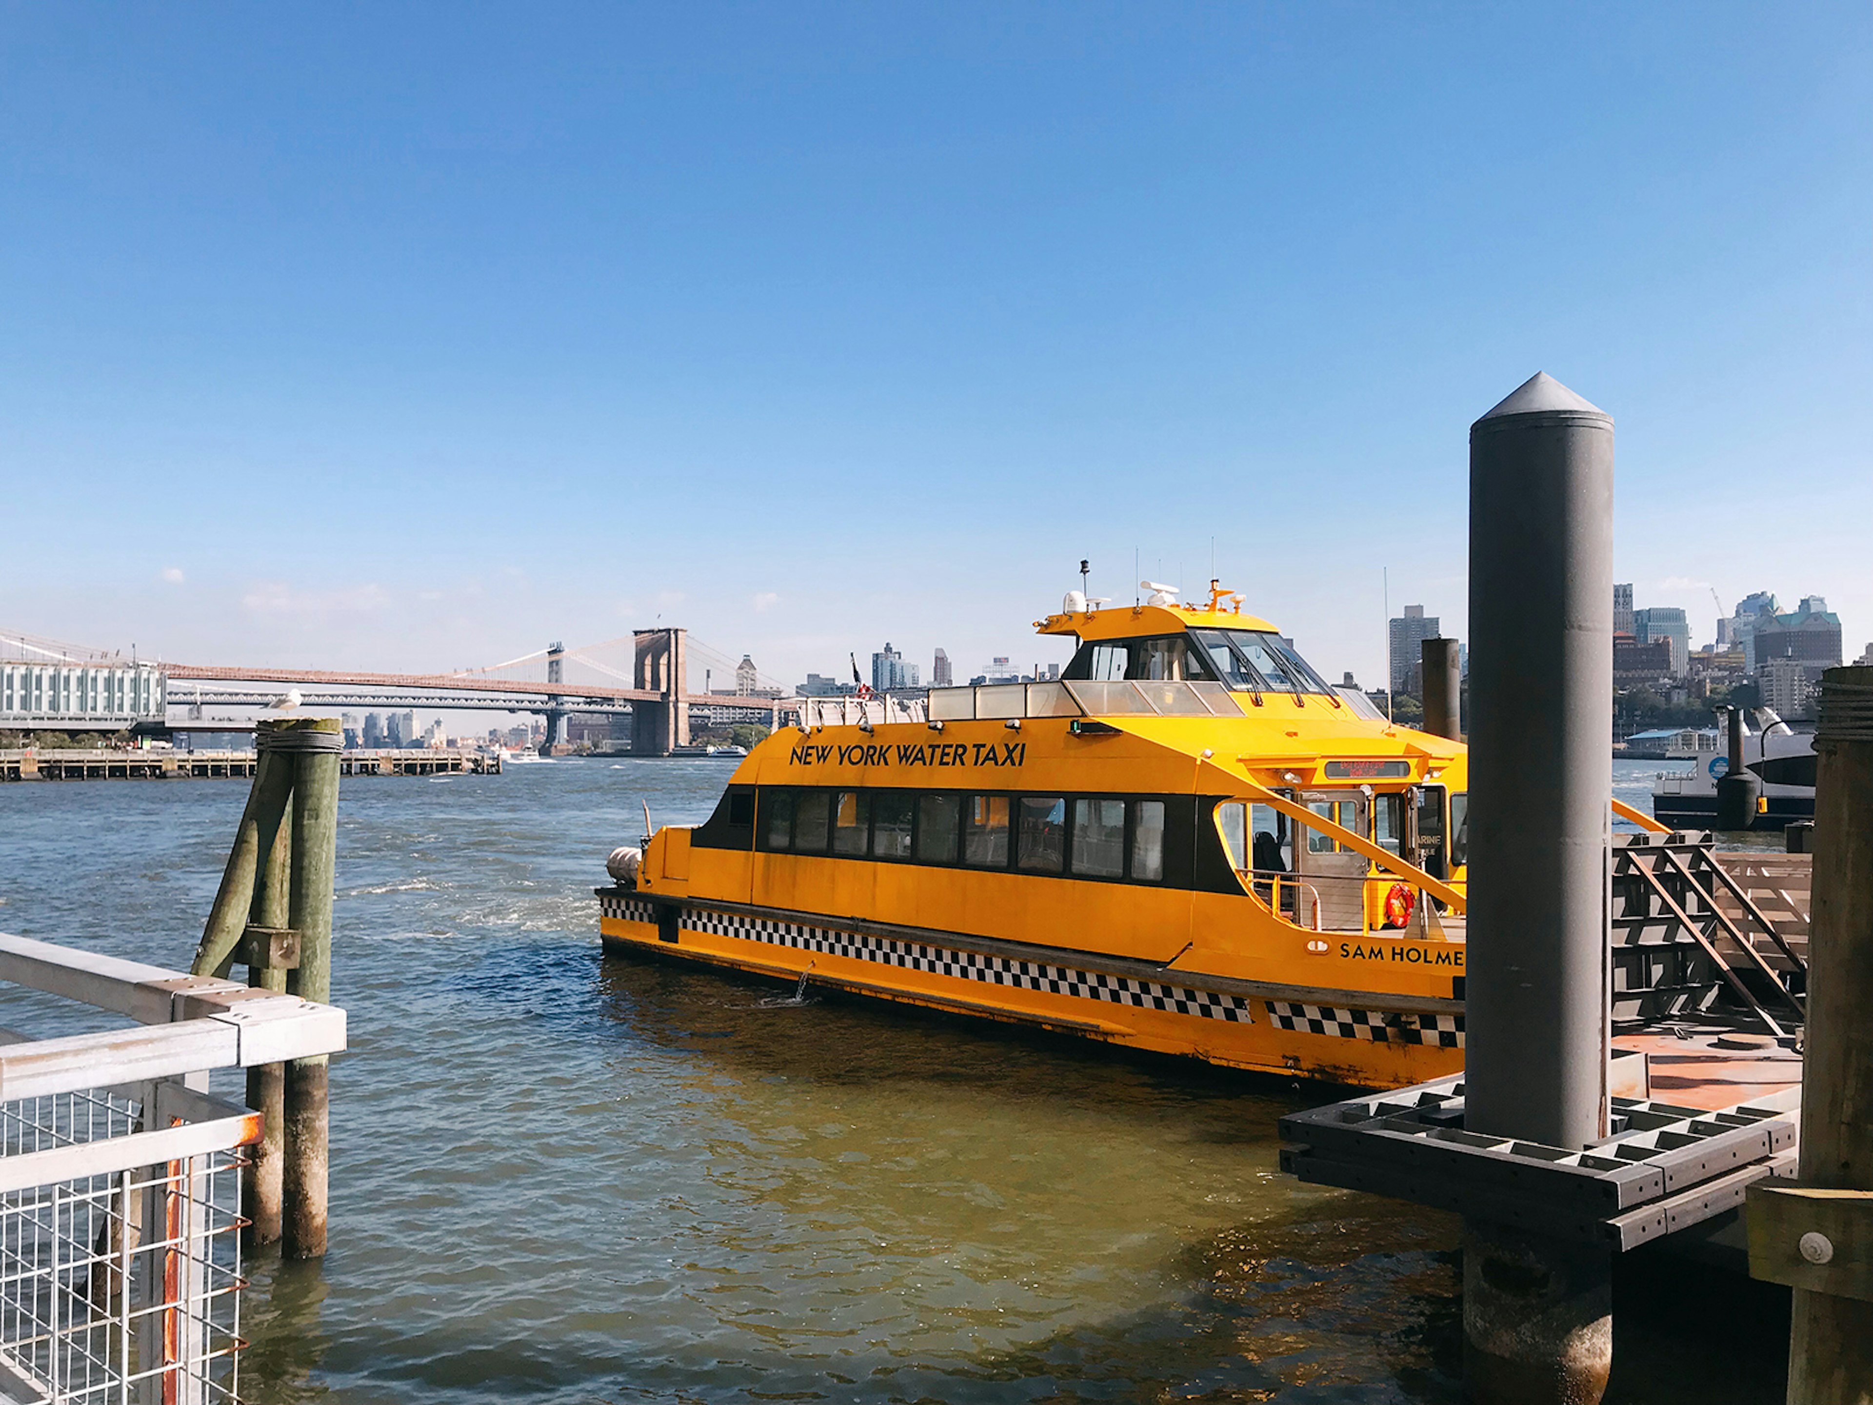
[[[1214,538],[1371,682],[1545,369],[1641,605],[1851,658],[1869,71],[1864,4],[9,4],[0,626],[974,671]]]

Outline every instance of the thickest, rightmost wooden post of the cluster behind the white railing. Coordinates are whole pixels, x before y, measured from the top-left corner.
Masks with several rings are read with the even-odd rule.
[[[307,1000],[332,998],[332,892],[337,869],[339,751],[337,717],[307,717],[275,732],[270,749],[290,751],[292,880],[288,924],[300,939],[300,965],[288,989]],[[290,1259],[326,1251],[328,1068],[326,1055],[294,1058],[285,1087],[283,1242]]]

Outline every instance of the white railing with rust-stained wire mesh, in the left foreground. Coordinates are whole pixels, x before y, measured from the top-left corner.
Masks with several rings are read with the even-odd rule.
[[[0,980],[139,1021],[0,1032],[0,1399],[236,1399],[240,1165],[217,1068],[345,1047],[345,1012],[0,933]]]

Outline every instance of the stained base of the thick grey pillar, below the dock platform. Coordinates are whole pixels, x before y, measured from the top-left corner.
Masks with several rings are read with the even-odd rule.
[[[1613,1257],[1463,1221],[1463,1388],[1476,1405],[1598,1405],[1613,1371]]]

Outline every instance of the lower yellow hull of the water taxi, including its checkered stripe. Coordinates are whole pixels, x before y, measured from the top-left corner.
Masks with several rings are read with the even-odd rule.
[[[676,957],[1227,1068],[1408,1087],[1463,1068],[1459,1000],[1362,997],[1086,952],[597,890],[612,952]]]

